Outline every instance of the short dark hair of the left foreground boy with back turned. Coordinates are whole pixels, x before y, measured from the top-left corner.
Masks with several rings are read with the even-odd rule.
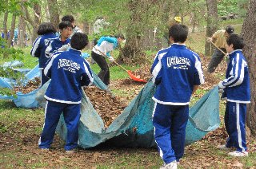
[[[71,48],[82,50],[88,45],[88,36],[86,33],[74,33],[74,35],[71,37],[70,45]]]

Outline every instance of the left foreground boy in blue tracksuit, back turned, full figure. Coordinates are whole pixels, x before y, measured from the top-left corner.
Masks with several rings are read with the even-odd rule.
[[[89,63],[81,57],[81,50],[88,44],[85,33],[74,33],[69,51],[57,52],[47,62],[44,73],[51,79],[46,90],[46,119],[38,145],[49,150],[58,120],[63,112],[67,128],[65,150],[74,152],[78,147],[78,122],[82,86],[94,81]]]

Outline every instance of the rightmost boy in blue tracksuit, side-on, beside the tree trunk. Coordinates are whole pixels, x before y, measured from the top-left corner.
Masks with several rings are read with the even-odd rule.
[[[225,126],[229,137],[222,149],[235,147],[229,155],[248,156],[246,147],[246,105],[250,103],[250,78],[246,58],[242,55],[244,42],[242,37],[232,34],[226,40],[229,62],[226,78],[220,81],[218,88],[223,90],[226,101]]]

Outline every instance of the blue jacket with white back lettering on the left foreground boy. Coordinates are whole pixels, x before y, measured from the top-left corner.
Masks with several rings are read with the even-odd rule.
[[[44,73],[51,78],[45,97],[59,103],[81,103],[81,87],[94,81],[90,65],[81,57],[81,51],[75,49],[54,53]]]

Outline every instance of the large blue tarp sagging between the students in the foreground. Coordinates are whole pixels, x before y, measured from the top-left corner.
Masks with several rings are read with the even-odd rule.
[[[95,77],[94,85],[106,89],[106,85]],[[45,104],[42,98],[47,85],[40,88],[38,102]],[[115,147],[155,147],[152,112],[154,108],[155,86],[149,81],[138,96],[130,102],[108,128],[104,128],[103,121],[90,103],[90,99],[83,92],[81,119],[79,123],[79,142],[83,148],[99,145]],[[40,96],[41,95],[41,96]],[[186,128],[186,145],[202,139],[208,132],[218,128],[220,124],[218,114],[218,88],[215,87],[190,108],[190,119]],[[66,124],[61,117],[57,132],[62,140],[66,140]]]

